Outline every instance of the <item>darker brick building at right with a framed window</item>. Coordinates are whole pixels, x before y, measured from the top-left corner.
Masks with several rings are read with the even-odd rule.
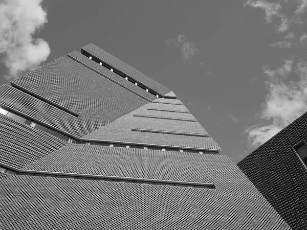
[[[292,229],[307,229],[307,112],[237,165]]]

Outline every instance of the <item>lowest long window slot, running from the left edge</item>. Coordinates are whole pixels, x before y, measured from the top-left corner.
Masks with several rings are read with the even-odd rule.
[[[33,170],[17,169],[17,168],[6,166],[4,164],[1,164],[0,169],[3,173],[6,173],[8,175],[44,176],[44,177],[58,177],[58,178],[85,179],[85,180],[87,179],[87,180],[100,180],[100,181],[112,181],[112,182],[124,182],[124,183],[140,183],[143,185],[215,189],[215,186],[213,183],[203,183],[203,182],[188,182],[188,181],[177,181],[177,180],[160,180],[160,179],[133,178],[133,177],[120,177],[120,176],[98,176],[98,175],[87,175],[87,174],[77,174],[77,173],[33,171]]]

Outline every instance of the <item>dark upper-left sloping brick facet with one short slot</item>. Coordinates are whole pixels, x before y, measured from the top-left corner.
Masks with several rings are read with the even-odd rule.
[[[50,111],[50,106],[46,103],[45,108],[39,107],[38,111],[34,107],[35,104],[29,104],[30,102],[27,108],[23,108],[27,111],[32,109],[29,116],[78,137],[115,121],[147,103],[136,94],[69,57],[61,57],[13,80],[12,83],[80,114],[78,118],[68,114],[63,116],[63,119],[55,120],[51,114],[45,116],[44,109]],[[14,98],[10,98],[9,95],[3,97],[7,97],[6,101],[11,100],[11,103],[16,105]],[[57,113],[61,114],[59,111]]]

